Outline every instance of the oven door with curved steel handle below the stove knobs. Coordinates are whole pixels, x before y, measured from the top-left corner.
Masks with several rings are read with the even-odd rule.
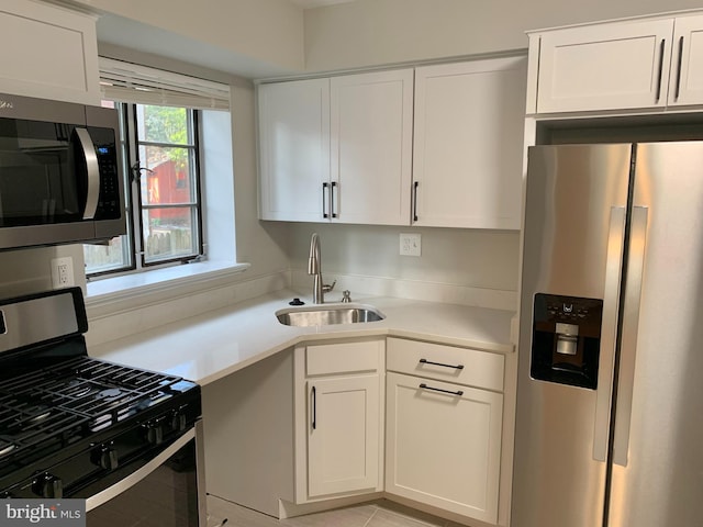
[[[88,527],[205,527],[202,422],[146,464],[86,498]]]

